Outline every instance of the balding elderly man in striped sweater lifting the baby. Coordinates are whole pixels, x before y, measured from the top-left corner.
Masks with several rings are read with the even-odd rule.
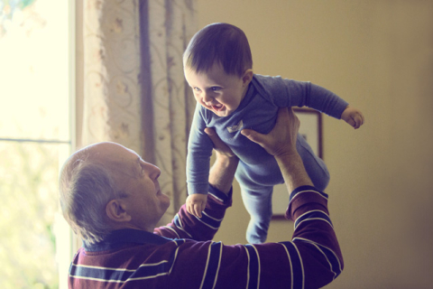
[[[155,228],[170,200],[161,171],[120,144],[90,145],[69,157],[60,175],[65,219],[79,237],[69,288],[318,288],[341,273],[343,258],[327,211],[296,151],[299,120],[281,109],[269,135],[242,134],[274,155],[290,193],[291,241],[226,246],[214,242],[238,160],[212,129],[217,150],[209,199],[200,217],[185,205]]]

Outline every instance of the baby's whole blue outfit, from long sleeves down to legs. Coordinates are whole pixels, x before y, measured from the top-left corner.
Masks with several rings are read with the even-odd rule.
[[[283,183],[275,158],[262,146],[241,135],[251,128],[268,134],[275,126],[279,107],[311,107],[331,117],[340,118],[347,102],[333,92],[310,82],[253,75],[249,88],[239,107],[227,117],[218,117],[197,104],[189,134],[187,182],[189,194],[207,194],[209,162],[213,144],[204,132],[214,127],[217,135],[239,158],[235,174],[244,205],[251,220],[247,228],[250,243],[263,243],[272,218],[272,188]],[[318,190],[329,182],[326,164],[315,155],[305,139],[298,135],[297,150]]]

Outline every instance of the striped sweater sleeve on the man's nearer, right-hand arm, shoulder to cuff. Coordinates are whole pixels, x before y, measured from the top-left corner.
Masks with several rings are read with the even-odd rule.
[[[327,211],[327,194],[300,187],[290,195],[286,217],[291,241],[225,246],[186,242],[170,282],[189,288],[320,288],[343,270],[343,257]]]

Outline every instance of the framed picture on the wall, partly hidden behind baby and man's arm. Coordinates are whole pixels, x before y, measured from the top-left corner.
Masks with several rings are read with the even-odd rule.
[[[314,154],[323,159],[322,141],[322,114],[311,108],[293,107],[300,121],[299,135],[302,135],[311,146]],[[273,187],[272,193],[272,219],[284,219],[289,204],[289,192],[286,184]]]

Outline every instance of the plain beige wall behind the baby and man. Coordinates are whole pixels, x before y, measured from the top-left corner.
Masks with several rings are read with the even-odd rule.
[[[327,288],[433,288],[433,1],[198,0],[198,23],[244,30],[256,73],[310,80],[360,108],[324,117],[330,211],[345,271]],[[217,239],[243,243],[235,205]],[[290,238],[273,221],[269,241]]]

